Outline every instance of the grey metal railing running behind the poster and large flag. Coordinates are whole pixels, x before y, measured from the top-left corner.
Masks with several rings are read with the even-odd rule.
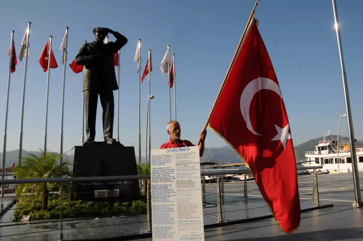
[[[318,193],[318,180],[317,180],[317,172],[316,169],[320,169],[322,168],[322,166],[311,166],[311,167],[297,167],[297,170],[307,170],[307,169],[313,169],[313,199],[309,199],[309,200],[313,200],[313,207],[319,207],[320,203],[319,203],[319,193]],[[226,207],[226,205],[230,205],[233,202],[241,202],[241,201],[251,201],[253,202],[254,200],[258,200],[261,198],[255,198],[255,199],[247,199],[246,197],[248,197],[248,181],[247,181],[247,175],[244,176],[244,180],[242,181],[237,181],[237,183],[243,183],[243,191],[240,191],[241,196],[243,196],[243,199],[237,199],[237,201],[231,200],[231,201],[226,201],[225,198],[228,195],[236,195],[236,192],[229,192],[227,190],[227,192],[225,192],[225,188],[224,188],[224,183],[227,182],[227,180],[224,180],[223,178],[219,178],[222,177],[224,175],[233,175],[233,174],[250,174],[250,171],[248,169],[238,169],[238,170],[223,170],[223,171],[202,171],[201,172],[201,177],[202,177],[202,202],[203,202],[203,209],[207,210],[206,213],[204,215],[207,216],[212,216],[214,214],[217,215],[217,224],[221,223],[221,222],[227,222],[224,218],[224,215],[226,215],[226,213],[233,213],[233,212],[238,212],[238,211],[243,211],[243,210],[249,210],[249,209],[255,209],[255,208],[264,208],[264,207],[254,207],[254,208],[248,208],[248,209],[241,209],[241,210],[237,210],[237,211],[231,211],[231,210],[224,210],[224,208]],[[205,176],[217,176],[216,179],[216,193],[215,191],[215,184],[209,184],[208,185],[208,191],[206,192],[206,185],[205,185]],[[72,178],[43,178],[43,179],[8,179],[8,180],[0,180],[0,184],[21,184],[21,183],[73,183],[73,182],[92,182],[92,181],[117,181],[117,180],[135,180],[135,179],[147,179],[147,185],[146,185],[146,202],[147,202],[147,210],[146,210],[146,221],[147,222],[147,230],[145,230],[145,233],[150,233],[152,231],[152,209],[151,209],[151,185],[150,185],[150,175],[132,175],[132,176],[99,176],[99,177],[72,177]],[[236,183],[236,182],[234,182]],[[254,181],[253,181],[254,183]],[[240,188],[241,189],[241,188]],[[212,190],[212,191],[211,191]],[[250,193],[256,193],[257,190],[249,190]],[[62,192],[62,189],[61,189]],[[211,192],[211,193],[209,193]],[[203,195],[204,194],[204,195]],[[217,199],[216,201],[211,201],[211,202],[207,202],[206,197],[213,197],[213,195],[216,195]],[[262,198],[263,199],[263,198]],[[304,201],[308,201],[308,200],[304,200]],[[60,216],[59,216],[59,230],[60,230],[60,234],[59,234],[59,238],[58,241],[62,241],[64,240],[64,236],[63,236],[63,203],[60,203]],[[232,206],[229,206],[232,207]],[[240,207],[240,205],[237,203],[237,205],[234,205],[233,207]],[[213,212],[213,208],[217,209],[217,212]],[[49,220],[47,220],[49,222]],[[53,221],[54,222],[54,221]],[[95,226],[94,228],[97,228],[99,226]],[[44,231],[43,231],[44,232]]]

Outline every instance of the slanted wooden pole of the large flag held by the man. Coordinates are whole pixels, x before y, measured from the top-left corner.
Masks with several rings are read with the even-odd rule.
[[[232,58],[231,64],[229,64],[229,67],[228,67],[227,73],[226,73],[226,75],[225,75],[225,77],[224,77],[224,79],[223,79],[222,85],[221,85],[221,87],[220,87],[220,89],[219,89],[219,91],[218,91],[218,94],[217,94],[216,100],[215,100],[215,101],[214,101],[214,103],[213,103],[212,110],[211,110],[211,112],[209,113],[209,116],[208,116],[208,118],[207,118],[207,121],[205,122],[205,125],[204,125],[203,130],[206,130],[206,129],[207,129],[207,126],[208,126],[209,120],[211,120],[211,117],[212,117],[213,111],[214,111],[214,109],[216,108],[216,105],[217,105],[218,99],[219,99],[219,97],[221,96],[221,93],[222,93],[222,90],[223,90],[223,88],[224,88],[224,85],[225,85],[225,83],[227,82],[227,78],[228,78],[228,76],[229,76],[229,73],[231,72],[232,65],[233,65],[234,61],[236,60],[236,58],[237,58],[238,50],[241,48],[241,45],[242,45],[242,42],[243,42],[243,40],[244,40],[244,38],[245,38],[245,35],[246,35],[246,32],[247,32],[248,26],[249,26],[249,24],[250,24],[250,22],[251,22],[251,20],[252,20],[252,18],[253,18],[254,11],[255,11],[255,9],[256,9],[256,7],[257,7],[257,5],[258,5],[258,1],[260,1],[260,0],[257,0],[257,1],[256,1],[256,3],[254,4],[254,7],[253,7],[252,12],[251,12],[251,15],[250,15],[250,17],[249,17],[249,19],[248,19],[248,21],[247,21],[247,24],[246,24],[245,30],[244,30],[244,31],[243,31],[243,33],[242,33],[242,36],[241,36],[240,42],[238,43],[238,46],[237,46],[236,52],[234,52],[234,55],[233,55],[233,58]],[[197,146],[199,146],[200,141],[201,141],[201,137],[199,137],[199,140],[198,140]]]

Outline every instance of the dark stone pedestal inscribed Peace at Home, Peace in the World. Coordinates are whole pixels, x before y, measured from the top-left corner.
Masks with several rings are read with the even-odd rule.
[[[122,144],[88,144],[74,150],[74,177],[138,175],[134,147]],[[72,200],[118,202],[140,199],[139,180],[76,183]]]

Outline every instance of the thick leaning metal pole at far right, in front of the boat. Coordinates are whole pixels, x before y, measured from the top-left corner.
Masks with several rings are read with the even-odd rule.
[[[340,68],[342,69],[343,93],[344,93],[344,100],[345,100],[345,109],[346,109],[346,113],[347,113],[350,150],[351,150],[351,155],[352,155],[352,169],[353,169],[353,181],[354,181],[354,191],[355,191],[355,202],[352,204],[352,207],[360,208],[360,207],[363,207],[363,203],[362,203],[362,197],[360,196],[358,164],[357,164],[357,156],[356,156],[356,152],[355,152],[355,139],[354,139],[354,131],[353,131],[352,113],[351,113],[351,109],[350,109],[347,74],[345,72],[345,66],[344,66],[342,42],[340,41],[340,29],[339,29],[339,21],[338,21],[337,4],[336,4],[335,0],[332,0],[332,1],[333,1],[333,12],[334,12],[334,20],[335,20],[335,30],[337,31]]]

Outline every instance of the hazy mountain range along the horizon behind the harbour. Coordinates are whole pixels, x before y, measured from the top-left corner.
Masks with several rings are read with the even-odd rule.
[[[315,139],[311,139],[305,143],[299,144],[297,146],[294,147],[295,149],[295,157],[296,159],[305,159],[305,152],[306,151],[314,151],[315,150],[315,146],[317,146],[317,144],[319,143],[319,141],[323,140],[323,136],[319,137],[319,138],[315,138]],[[331,135],[329,137],[329,140],[331,139],[337,139],[336,135]],[[357,141],[357,144],[360,141]],[[25,156],[26,154],[38,154],[37,151],[25,151],[23,150],[23,156]],[[0,156],[3,156],[3,153],[0,153]],[[19,150],[14,150],[14,151],[7,151],[6,152],[6,167],[11,167],[11,165],[13,163],[17,164],[18,162],[18,156],[19,156]],[[64,159],[69,159],[69,160],[73,160],[74,158],[74,154],[70,154],[70,155],[66,155],[64,154]],[[145,162],[145,157],[141,158],[142,163]],[[139,157],[136,156],[136,162],[139,161]],[[236,152],[234,152],[232,150],[231,147],[229,146],[224,146],[224,147],[210,147],[210,148],[205,148],[204,149],[204,155],[202,158],[200,158],[201,162],[215,162],[218,163],[221,161],[223,165],[225,164],[230,164],[230,163],[240,163],[241,159],[239,158],[239,156],[236,154]]]

